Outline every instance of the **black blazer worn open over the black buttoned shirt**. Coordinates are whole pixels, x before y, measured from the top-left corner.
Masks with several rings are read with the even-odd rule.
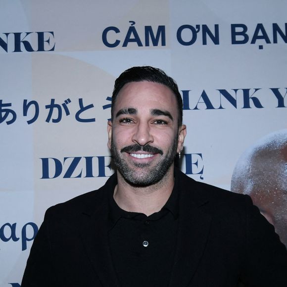
[[[169,287],[287,287],[287,251],[249,196],[175,170],[180,208]],[[108,191],[50,207],[21,287],[119,287],[108,246]]]

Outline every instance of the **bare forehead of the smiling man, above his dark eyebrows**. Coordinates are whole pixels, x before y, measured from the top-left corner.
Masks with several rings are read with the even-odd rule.
[[[165,85],[153,82],[130,82],[120,90],[115,101],[115,113],[122,108],[137,110],[164,109],[177,118],[177,101]]]

